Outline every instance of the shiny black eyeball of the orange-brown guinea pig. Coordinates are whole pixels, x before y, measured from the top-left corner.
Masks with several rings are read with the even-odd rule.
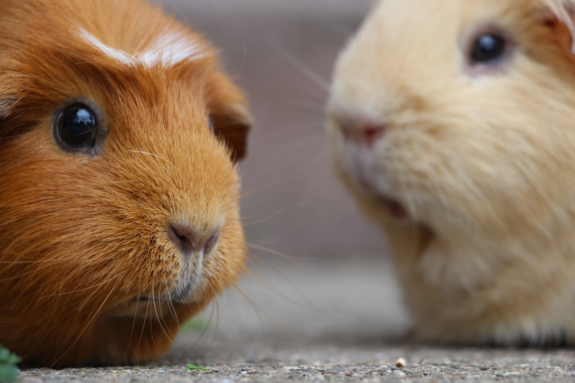
[[[62,113],[57,125],[58,137],[70,148],[93,149],[96,146],[98,122],[86,105],[76,104]]]

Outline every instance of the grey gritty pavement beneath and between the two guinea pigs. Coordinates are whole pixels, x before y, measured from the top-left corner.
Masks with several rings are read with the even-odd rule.
[[[182,331],[173,349],[150,365],[27,369],[19,381],[575,381],[572,349],[401,341],[408,320],[385,260],[268,263],[273,268],[252,267],[258,277],[246,276],[196,319],[194,326],[206,327],[203,335],[199,328]],[[400,358],[404,366],[396,366]],[[186,371],[187,363],[210,371]]]

